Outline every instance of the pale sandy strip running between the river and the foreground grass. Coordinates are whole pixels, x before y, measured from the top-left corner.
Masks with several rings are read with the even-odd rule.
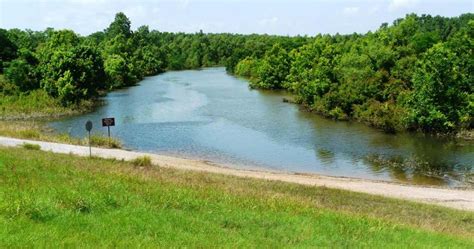
[[[89,155],[89,147],[85,146],[0,137],[0,146],[13,147],[22,145],[23,143],[38,144],[41,146],[42,150],[52,151],[55,153],[75,154],[79,156]],[[354,192],[406,199],[451,207],[455,209],[474,211],[474,190],[402,185],[384,181],[330,177],[315,174],[292,174],[286,172],[237,169],[209,163],[206,161],[118,149],[92,148],[92,155],[103,158],[115,158],[119,160],[132,160],[140,156],[149,156],[154,164],[160,165],[161,167],[284,181],[312,186],[325,186],[328,188],[344,189]]]

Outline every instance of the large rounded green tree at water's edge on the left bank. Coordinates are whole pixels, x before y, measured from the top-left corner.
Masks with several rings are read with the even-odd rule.
[[[39,54],[41,86],[64,105],[97,96],[98,90],[104,88],[100,53],[82,45],[74,32],[54,32]]]

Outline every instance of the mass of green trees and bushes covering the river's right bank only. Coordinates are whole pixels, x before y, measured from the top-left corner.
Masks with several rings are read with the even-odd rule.
[[[374,33],[316,36],[289,56],[275,44],[236,73],[252,78],[258,60],[252,87],[285,88],[318,113],[387,132],[472,129],[472,19],[410,14]]]

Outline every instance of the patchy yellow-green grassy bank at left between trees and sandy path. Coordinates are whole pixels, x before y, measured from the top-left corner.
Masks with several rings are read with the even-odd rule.
[[[43,90],[19,93],[0,74],[0,136],[32,139],[48,142],[87,145],[88,140],[78,139],[68,134],[55,133],[44,125],[43,120],[78,115],[91,111],[97,101],[83,100],[80,104],[65,107],[58,99]],[[96,147],[121,148],[121,142],[110,141],[102,135],[93,135],[91,143]]]

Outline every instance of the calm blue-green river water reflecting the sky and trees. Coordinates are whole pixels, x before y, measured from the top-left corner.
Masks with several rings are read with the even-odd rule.
[[[472,182],[474,144],[420,134],[389,135],[335,122],[282,101],[285,93],[250,90],[223,68],[168,72],[109,93],[93,113],[51,123],[85,136],[102,117],[130,149],[293,172],[430,185]],[[243,166],[242,166],[243,167]]]

